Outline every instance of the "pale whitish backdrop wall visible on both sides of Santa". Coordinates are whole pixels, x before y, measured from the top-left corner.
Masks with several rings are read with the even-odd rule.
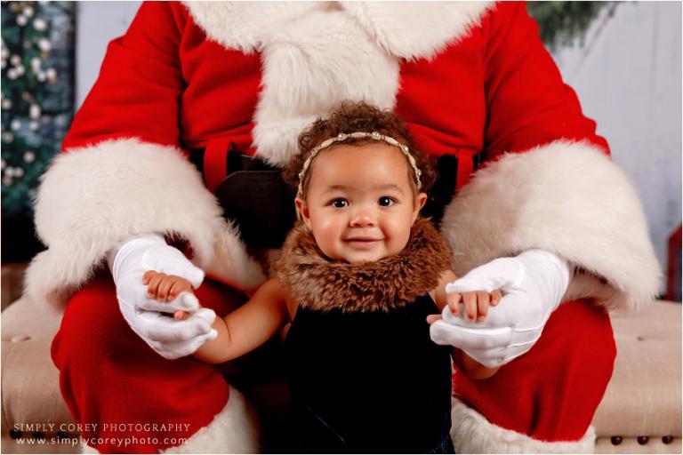
[[[139,5],[78,3],[78,106],[97,78],[108,41],[125,33]],[[583,48],[564,48],[554,57],[638,188],[666,271],[667,240],[681,222],[681,4],[619,4],[613,17],[592,24]]]

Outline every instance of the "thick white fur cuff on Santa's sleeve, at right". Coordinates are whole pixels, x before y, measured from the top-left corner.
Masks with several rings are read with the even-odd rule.
[[[654,298],[661,271],[639,196],[598,148],[558,140],[478,171],[446,208],[442,231],[462,275],[529,248],[554,251],[609,286],[577,275],[567,296],[607,307]]]

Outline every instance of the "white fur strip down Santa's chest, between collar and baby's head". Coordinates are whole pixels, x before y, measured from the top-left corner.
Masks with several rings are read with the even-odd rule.
[[[342,11],[309,12],[274,30],[262,60],[253,142],[271,164],[285,165],[301,131],[342,100],[385,109],[396,101],[398,60]]]

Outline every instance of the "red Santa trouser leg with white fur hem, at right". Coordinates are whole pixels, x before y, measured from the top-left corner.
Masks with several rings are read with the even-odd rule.
[[[591,420],[615,355],[604,308],[588,300],[562,304],[534,347],[492,378],[455,371],[456,452],[592,452]]]

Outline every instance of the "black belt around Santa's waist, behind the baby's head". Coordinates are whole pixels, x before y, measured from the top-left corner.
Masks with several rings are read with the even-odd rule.
[[[190,161],[202,175],[204,153],[203,148],[190,152]],[[475,169],[477,164],[478,159]],[[281,169],[237,151],[228,152],[226,168],[227,177],[215,191],[225,219],[237,225],[248,248],[281,247],[296,221],[296,189],[285,183]],[[458,158],[439,156],[436,171],[437,180],[421,214],[438,226],[454,196]]]

